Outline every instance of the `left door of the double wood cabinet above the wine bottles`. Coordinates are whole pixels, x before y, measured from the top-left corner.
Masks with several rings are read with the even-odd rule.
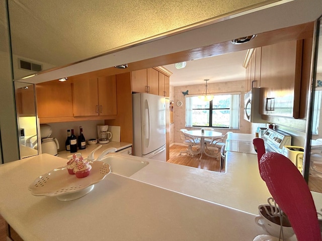
[[[74,116],[99,115],[97,78],[74,79]]]

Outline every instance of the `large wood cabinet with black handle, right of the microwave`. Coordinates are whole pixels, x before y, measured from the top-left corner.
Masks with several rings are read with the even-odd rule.
[[[262,47],[261,113],[299,118],[303,40]]]

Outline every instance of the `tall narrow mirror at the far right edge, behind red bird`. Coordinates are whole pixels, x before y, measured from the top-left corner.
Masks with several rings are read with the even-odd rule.
[[[321,19],[317,24],[316,54],[313,73],[310,140],[305,156],[304,177],[311,191],[322,193],[322,34]],[[320,124],[321,123],[321,124]],[[309,159],[306,161],[306,158]]]

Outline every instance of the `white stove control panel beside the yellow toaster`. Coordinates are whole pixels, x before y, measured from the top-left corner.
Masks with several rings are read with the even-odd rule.
[[[266,129],[262,138],[265,143],[266,152],[277,152],[282,154],[283,147],[290,146],[292,142],[292,137],[290,135],[275,129]]]

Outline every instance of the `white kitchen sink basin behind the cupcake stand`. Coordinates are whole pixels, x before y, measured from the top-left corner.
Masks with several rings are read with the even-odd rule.
[[[125,177],[132,176],[149,164],[147,161],[142,161],[141,158],[116,153],[109,153],[101,161],[110,165],[112,173]]]

